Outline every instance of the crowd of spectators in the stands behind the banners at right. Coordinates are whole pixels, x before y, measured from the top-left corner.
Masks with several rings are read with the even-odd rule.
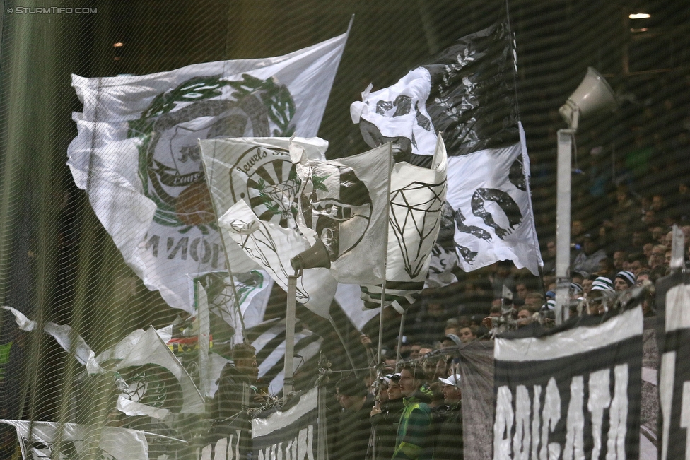
[[[624,292],[636,293],[645,317],[655,314],[654,285],[671,271],[672,225],[690,247],[688,187],[682,183],[678,191],[669,200],[660,194],[633,196],[619,187],[612,215],[599,225],[585,228],[582,220],[573,220],[571,317],[619,308]],[[341,411],[329,425],[335,458],[462,459],[461,377],[457,353],[447,351],[529,324],[553,326],[555,240],[546,242],[543,259],[541,277],[501,261],[489,273],[426,296],[405,324],[399,350],[392,343],[383,350],[385,377],[338,382]],[[368,336],[362,343],[373,357]]]

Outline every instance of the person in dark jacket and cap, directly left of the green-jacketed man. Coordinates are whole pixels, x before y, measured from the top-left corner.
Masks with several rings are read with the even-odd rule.
[[[383,377],[387,386],[387,401],[381,399],[380,406],[371,409],[371,427],[375,432],[375,449],[377,459],[390,459],[395,450],[395,435],[400,422],[400,415],[404,409],[402,393],[400,392],[400,373]],[[373,458],[371,447],[367,452],[367,458]]]

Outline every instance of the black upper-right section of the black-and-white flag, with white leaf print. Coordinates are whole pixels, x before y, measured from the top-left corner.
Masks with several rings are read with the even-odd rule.
[[[431,74],[426,110],[449,156],[520,141],[513,56],[505,20],[458,39],[423,66]]]

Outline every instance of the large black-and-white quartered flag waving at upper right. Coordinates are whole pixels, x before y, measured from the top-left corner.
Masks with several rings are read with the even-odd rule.
[[[428,165],[441,133],[455,251],[464,271],[512,260],[542,265],[530,198],[530,160],[515,93],[507,18],[460,38],[429,64],[351,105],[370,145],[392,141],[397,161]]]

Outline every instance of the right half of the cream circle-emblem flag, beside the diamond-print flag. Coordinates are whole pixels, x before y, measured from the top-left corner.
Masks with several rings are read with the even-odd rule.
[[[310,160],[291,144],[300,179],[297,226],[339,283],[382,281],[388,225],[390,144],[338,160]]]

